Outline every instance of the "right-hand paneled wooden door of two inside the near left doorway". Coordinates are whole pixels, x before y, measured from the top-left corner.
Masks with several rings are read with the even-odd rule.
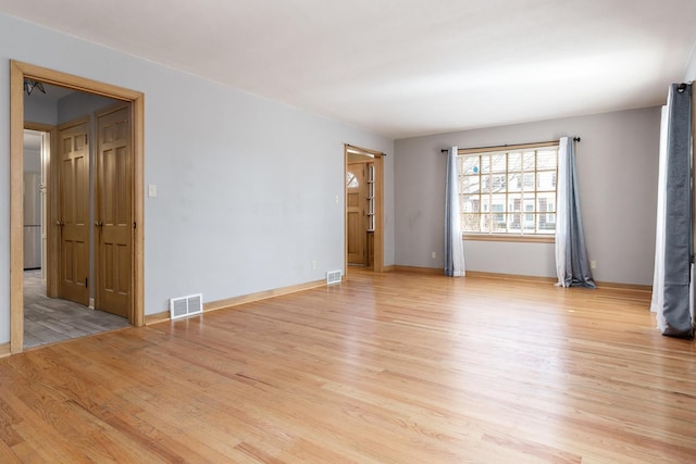
[[[96,308],[130,318],[133,160],[130,108],[97,116]]]

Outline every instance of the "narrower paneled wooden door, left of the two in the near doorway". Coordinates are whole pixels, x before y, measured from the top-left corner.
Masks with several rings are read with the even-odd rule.
[[[89,304],[89,142],[87,122],[59,127],[60,298]]]

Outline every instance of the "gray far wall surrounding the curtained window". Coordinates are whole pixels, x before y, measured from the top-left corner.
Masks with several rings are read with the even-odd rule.
[[[446,155],[440,149],[580,136],[580,200],[589,259],[597,261],[594,277],[650,285],[659,131],[660,109],[648,108],[397,140],[396,263],[444,266]],[[552,244],[467,240],[464,254],[471,271],[555,276]]]

